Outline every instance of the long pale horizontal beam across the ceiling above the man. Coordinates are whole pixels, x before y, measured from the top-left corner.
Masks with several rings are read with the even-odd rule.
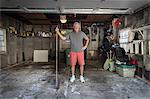
[[[25,13],[56,13],[56,14],[129,14],[128,9],[111,9],[111,8],[63,8],[61,9],[38,9],[38,8],[0,8],[0,11],[16,11]]]

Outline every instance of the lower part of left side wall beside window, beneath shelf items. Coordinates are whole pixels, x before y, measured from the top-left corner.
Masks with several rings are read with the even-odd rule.
[[[7,33],[6,39],[7,52],[0,54],[2,67],[22,62],[22,38]]]

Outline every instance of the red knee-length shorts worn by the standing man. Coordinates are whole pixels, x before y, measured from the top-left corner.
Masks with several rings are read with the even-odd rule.
[[[84,51],[82,52],[70,52],[70,61],[71,61],[71,66],[75,66],[77,61],[79,65],[85,65],[84,62]]]

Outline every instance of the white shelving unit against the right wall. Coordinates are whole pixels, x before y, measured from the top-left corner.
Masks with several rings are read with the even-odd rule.
[[[141,72],[141,76],[142,76],[142,79],[145,79],[145,72],[146,72],[146,67],[147,67],[147,61],[148,61],[148,57],[150,55],[150,40],[148,39],[148,30],[150,29],[150,25],[147,25],[147,26],[143,26],[143,27],[139,27],[139,28],[136,28],[136,29],[133,29],[132,31],[133,32],[137,32],[139,31],[139,33],[141,33],[141,35],[143,36],[143,40],[137,40],[137,41],[134,41],[132,44],[136,44],[135,45],[135,54],[142,54],[143,56],[143,66],[142,68],[141,67],[137,67],[137,70],[140,70],[140,71],[137,71],[137,72]],[[139,53],[137,49],[139,49],[139,45],[141,44],[141,52],[142,53]]]

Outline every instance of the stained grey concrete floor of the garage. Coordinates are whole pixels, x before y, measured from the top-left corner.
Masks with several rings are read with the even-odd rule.
[[[23,65],[0,73],[0,99],[150,99],[150,84],[104,70],[86,69],[86,82],[71,84],[61,69],[59,90],[53,65]]]

